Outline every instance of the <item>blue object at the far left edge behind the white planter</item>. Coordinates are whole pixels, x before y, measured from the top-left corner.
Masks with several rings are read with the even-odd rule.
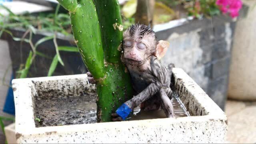
[[[13,78],[14,78],[14,76],[12,74],[12,78],[11,78],[11,81],[10,81],[10,86],[12,85]],[[7,96],[6,96],[3,111],[8,113],[8,114],[15,115],[14,96],[13,96],[12,87],[10,87],[8,92],[7,92]]]

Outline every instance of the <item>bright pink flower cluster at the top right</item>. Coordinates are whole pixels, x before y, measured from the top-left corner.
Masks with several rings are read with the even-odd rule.
[[[232,18],[239,15],[239,10],[242,8],[241,0],[217,0],[216,4],[220,6],[220,10],[223,14],[227,12]]]

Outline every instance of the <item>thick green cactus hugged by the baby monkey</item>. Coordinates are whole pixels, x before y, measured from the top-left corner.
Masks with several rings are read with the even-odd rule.
[[[122,42],[118,0],[58,2],[70,12],[76,45],[84,64],[97,81],[98,122],[109,122],[111,113],[132,96],[130,76],[125,72],[118,50]]]

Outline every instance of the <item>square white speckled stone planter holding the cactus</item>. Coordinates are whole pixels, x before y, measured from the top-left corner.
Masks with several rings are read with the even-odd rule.
[[[38,93],[80,93],[87,75],[15,79],[18,143],[221,143],[226,140],[227,118],[209,96],[180,68],[173,69],[174,83],[191,117],[158,118],[36,128],[34,101]],[[40,84],[40,86],[38,85]],[[68,85],[68,86],[67,86]],[[64,89],[62,86],[66,86]],[[68,88],[69,87],[69,88]],[[42,90],[44,89],[44,90]],[[70,90],[73,90],[72,92]],[[48,94],[50,96],[50,94]]]

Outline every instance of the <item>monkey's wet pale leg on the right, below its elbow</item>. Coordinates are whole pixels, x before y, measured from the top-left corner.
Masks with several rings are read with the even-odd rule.
[[[161,101],[162,108],[163,108],[164,113],[166,114],[167,118],[175,118],[172,102],[171,102],[170,98],[167,96],[167,94],[163,88],[159,91],[159,95],[161,98],[160,101]]]

